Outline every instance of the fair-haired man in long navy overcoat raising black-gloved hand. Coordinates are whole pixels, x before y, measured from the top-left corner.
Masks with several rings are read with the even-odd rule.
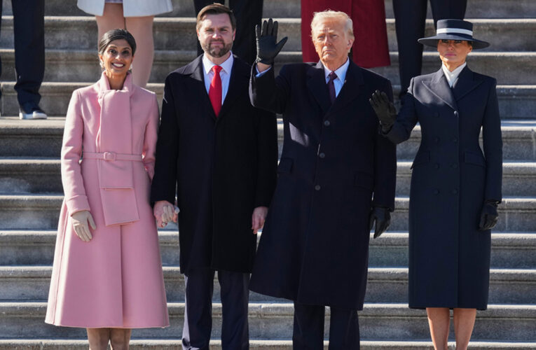
[[[359,349],[370,223],[376,235],[388,225],[397,166],[368,97],[376,88],[392,97],[391,85],[348,59],[354,37],[345,13],[317,13],[320,61],[283,66],[277,78],[277,22],[257,35],[250,96],[282,113],[284,145],[250,289],[294,300],[294,349],[323,349],[325,306],[330,349]]]

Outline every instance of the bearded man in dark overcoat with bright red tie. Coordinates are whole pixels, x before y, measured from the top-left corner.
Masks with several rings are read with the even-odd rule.
[[[161,226],[174,218],[177,194],[183,348],[209,349],[217,271],[222,347],[248,349],[249,272],[275,188],[277,122],[249,102],[250,66],[230,51],[231,10],[206,6],[197,31],[205,53],[165,80],[151,200]]]

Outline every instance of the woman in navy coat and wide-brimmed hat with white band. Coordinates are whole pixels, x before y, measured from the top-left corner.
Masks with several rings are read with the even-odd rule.
[[[453,309],[456,349],[467,349],[476,309],[488,304],[490,229],[502,197],[496,80],[465,63],[472,49],[489,45],[472,38],[470,22],[439,20],[437,35],[419,42],[437,46],[441,69],[411,80],[398,117],[384,93],[373,94],[371,104],[394,144],[420,123],[411,167],[409,307],[426,308],[435,349],[447,349]]]

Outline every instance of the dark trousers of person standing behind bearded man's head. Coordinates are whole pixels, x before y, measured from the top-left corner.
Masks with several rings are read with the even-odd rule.
[[[210,3],[224,3],[224,0],[193,0],[195,15]],[[253,64],[257,57],[255,42],[255,25],[261,25],[263,0],[229,0],[229,7],[236,18],[236,36],[233,43],[233,53]],[[203,53],[198,42],[198,55]]]

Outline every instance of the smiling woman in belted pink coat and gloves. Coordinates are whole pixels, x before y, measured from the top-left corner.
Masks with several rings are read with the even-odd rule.
[[[65,120],[46,323],[87,328],[95,350],[128,349],[132,328],[169,325],[149,204],[158,106],[153,92],[132,85],[135,50],[128,31],[106,32],[102,77],[74,91]]]

